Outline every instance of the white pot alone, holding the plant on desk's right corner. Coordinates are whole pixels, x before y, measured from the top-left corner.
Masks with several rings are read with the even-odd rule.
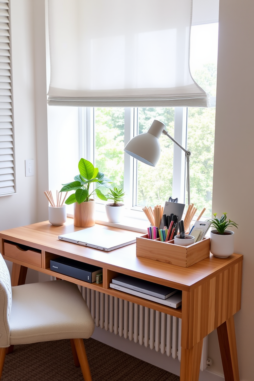
[[[210,232],[210,251],[215,257],[227,258],[234,252],[234,232],[225,230],[227,235],[214,234],[217,230]]]

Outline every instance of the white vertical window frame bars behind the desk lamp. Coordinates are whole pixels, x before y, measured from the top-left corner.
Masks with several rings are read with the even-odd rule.
[[[138,133],[137,107],[125,107],[125,134],[124,144]],[[187,149],[187,107],[175,107],[174,111],[174,138]],[[94,134],[94,108],[79,108],[79,156],[87,158],[94,163],[95,134]],[[173,197],[177,195],[178,201],[185,203],[185,154],[174,144],[173,159]],[[137,160],[124,153],[124,191],[126,194],[126,215],[133,218],[145,219],[142,207],[136,205],[137,186]],[[170,195],[169,195],[170,196]],[[166,201],[166,200],[165,200]],[[102,210],[105,202],[96,200],[96,209]]]

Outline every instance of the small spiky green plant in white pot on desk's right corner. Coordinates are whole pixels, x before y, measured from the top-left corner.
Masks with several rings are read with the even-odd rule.
[[[235,226],[238,229],[238,224],[231,219],[227,220],[227,213],[222,213],[220,219],[216,215],[217,213],[214,213],[214,218],[207,220],[216,229],[210,232],[210,251],[216,257],[227,258],[234,252],[234,232],[226,229],[229,226]]]

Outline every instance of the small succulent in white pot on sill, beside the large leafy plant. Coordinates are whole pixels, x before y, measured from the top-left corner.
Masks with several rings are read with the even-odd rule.
[[[114,187],[114,189],[109,189],[109,193],[106,196],[107,200],[113,200],[113,203],[105,205],[109,222],[120,222],[124,208],[124,204],[122,204],[121,201],[123,201],[125,192],[123,192],[123,189]]]

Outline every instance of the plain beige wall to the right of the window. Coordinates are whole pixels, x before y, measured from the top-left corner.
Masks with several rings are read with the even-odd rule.
[[[253,1],[220,0],[212,209],[239,224],[235,252],[244,255],[243,289],[235,326],[241,381],[254,379],[253,15]],[[216,356],[216,341],[210,344]]]

